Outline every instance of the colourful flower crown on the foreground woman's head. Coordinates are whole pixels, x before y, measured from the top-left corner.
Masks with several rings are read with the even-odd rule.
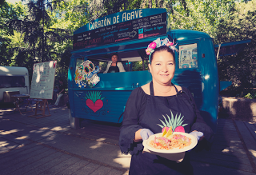
[[[158,38],[158,39],[154,40],[153,42],[151,42],[149,44],[149,46],[147,46],[146,54],[150,55],[150,57],[151,57],[151,54],[154,52],[154,49],[161,47],[161,46],[168,46],[168,47],[170,47],[171,50],[178,51],[178,49],[176,49],[176,47],[175,47],[176,45],[177,45],[177,43],[174,45],[174,40],[173,40],[173,42],[170,42],[168,38],[165,38],[165,39]],[[150,58],[149,58],[149,60],[150,60]]]

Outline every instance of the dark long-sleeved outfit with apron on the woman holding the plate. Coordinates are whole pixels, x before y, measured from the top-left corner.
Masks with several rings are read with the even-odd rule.
[[[175,87],[175,86],[174,86]],[[176,87],[175,87],[176,89]],[[204,133],[206,140],[212,141],[213,131],[197,109],[190,91],[182,91],[170,97],[154,96],[153,83],[150,83],[150,95],[141,87],[134,89],[126,103],[126,109],[120,129],[119,145],[122,153],[132,155],[130,174],[193,174],[189,153],[181,163],[170,161],[150,153],[142,153],[142,141],[134,142],[138,129],[150,129],[161,133],[163,123],[172,125],[173,130],[184,129]],[[163,122],[163,123],[162,123]]]

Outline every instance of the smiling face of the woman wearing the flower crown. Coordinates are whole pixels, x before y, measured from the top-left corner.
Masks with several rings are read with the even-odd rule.
[[[166,50],[154,53],[149,69],[154,82],[161,85],[170,85],[175,72],[173,55]]]

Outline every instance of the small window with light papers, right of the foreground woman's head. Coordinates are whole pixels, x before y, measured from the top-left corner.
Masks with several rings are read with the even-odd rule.
[[[196,43],[178,46],[178,68],[198,68],[198,46]]]

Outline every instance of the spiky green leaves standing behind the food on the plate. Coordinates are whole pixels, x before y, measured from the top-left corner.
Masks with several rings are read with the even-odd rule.
[[[174,130],[176,127],[178,127],[178,126],[185,126],[185,125],[187,125],[187,124],[183,124],[182,125],[182,123],[183,123],[183,117],[184,116],[182,116],[182,113],[179,113],[179,116],[178,116],[178,113],[176,113],[176,116],[174,117],[174,114],[171,112],[171,110],[170,110],[170,114],[171,114],[171,117],[169,117],[167,114],[166,114],[166,117],[168,118],[168,121],[167,121],[167,119],[166,119],[166,117],[164,116],[164,115],[162,115],[162,117],[164,117],[164,119],[165,119],[165,121],[166,122],[164,122],[164,121],[162,121],[161,119],[159,119],[161,122],[162,122],[162,125],[159,125],[159,124],[157,124],[157,125],[159,125],[161,128],[163,128],[163,127],[169,127],[170,128],[170,126],[172,127],[172,129]],[[182,116],[182,117],[181,117]]]

